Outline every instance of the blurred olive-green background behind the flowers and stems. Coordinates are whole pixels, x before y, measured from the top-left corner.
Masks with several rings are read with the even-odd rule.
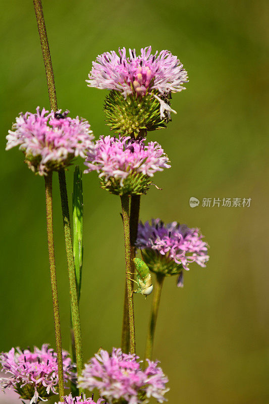
[[[175,94],[178,114],[150,132],[172,168],[154,177],[163,190],[142,197],[141,219],[198,226],[210,244],[206,269],[196,264],[185,286],[165,282],[154,357],[170,379],[170,402],[265,404],[268,374],[268,3],[264,0],[44,1],[58,104],[108,134],[105,91],[85,79],[97,54],[118,46],[170,49],[189,72]],[[0,349],[55,346],[45,229],[44,180],[5,151],[20,111],[48,108],[33,5],[11,0],[1,13]],[[80,161],[81,168],[83,162]],[[58,178],[53,209],[63,343],[69,348],[69,290]],[[73,167],[67,172],[69,196]],[[124,288],[120,200],[85,175],[83,348],[119,346]],[[249,208],[200,206],[189,198],[252,198]],[[71,198],[70,198],[71,202]],[[135,298],[138,354],[143,356],[151,296]]]

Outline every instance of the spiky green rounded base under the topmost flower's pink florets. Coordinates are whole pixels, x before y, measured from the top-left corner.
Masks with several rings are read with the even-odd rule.
[[[170,105],[170,100],[166,101]],[[141,95],[134,91],[124,97],[121,92],[112,90],[105,97],[104,114],[112,130],[134,138],[143,137],[148,131],[164,129],[171,121],[166,111],[164,117],[160,117],[159,101],[149,92]]]

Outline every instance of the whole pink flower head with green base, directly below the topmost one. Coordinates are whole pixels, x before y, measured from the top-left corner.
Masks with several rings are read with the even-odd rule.
[[[102,187],[116,194],[142,194],[157,171],[171,167],[157,142],[101,136],[89,151],[84,173],[97,171]]]

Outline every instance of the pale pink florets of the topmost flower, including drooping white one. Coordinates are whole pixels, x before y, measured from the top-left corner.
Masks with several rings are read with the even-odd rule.
[[[188,76],[177,56],[169,51],[157,53],[151,54],[151,46],[142,48],[138,56],[135,49],[129,49],[128,57],[125,47],[119,48],[119,55],[115,51],[105,52],[92,62],[86,82],[89,87],[121,91],[125,97],[131,93],[145,95],[152,92],[160,102],[163,118],[165,110],[168,113],[175,111],[158,95],[184,90]]]

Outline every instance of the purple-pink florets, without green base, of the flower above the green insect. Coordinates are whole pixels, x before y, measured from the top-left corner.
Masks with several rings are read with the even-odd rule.
[[[189,263],[196,262],[205,267],[209,260],[208,244],[202,238],[197,228],[189,228],[177,222],[165,225],[160,219],[152,219],[151,223],[139,223],[136,245],[153,249],[188,270]]]

